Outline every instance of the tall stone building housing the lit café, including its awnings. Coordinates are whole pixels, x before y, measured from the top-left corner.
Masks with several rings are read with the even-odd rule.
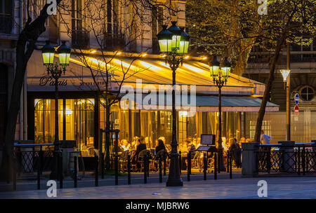
[[[26,1],[5,2],[4,11],[7,15],[4,17],[10,16],[14,22],[21,25],[13,25],[11,29],[4,26],[4,29],[1,29],[3,33],[0,34],[1,82],[4,82],[1,83],[0,93],[1,137],[5,130],[6,111],[14,79],[15,43],[22,23],[25,23],[26,14]],[[171,106],[168,104],[170,97],[167,92],[162,95],[163,109],[157,108],[157,104],[156,108],[140,107],[140,103],[146,99],[148,87],[172,83],[169,64],[166,64],[164,55],[157,54],[159,49],[156,34],[162,29],[162,25],[170,26],[171,20],[177,21],[178,27],[185,27],[185,1],[166,1],[165,4],[162,1],[159,6],[151,8],[140,4],[126,4],[130,1],[93,1],[98,3],[96,5],[87,5],[88,2],[91,3],[84,0],[62,1],[58,13],[49,16],[46,32],[38,39],[37,50],[34,50],[27,64],[15,139],[34,140],[36,143],[54,141],[53,82],[47,75],[40,52],[45,41],[49,40],[54,46],[59,46],[61,41],[67,41],[67,45],[72,48],[70,66],[58,83],[59,139],[75,140],[77,149],[84,151],[87,156],[90,155],[90,149],[98,148],[99,130],[105,128],[105,100],[100,96],[100,92],[103,92],[102,87],[101,90],[96,90],[93,85],[90,71],[93,69],[102,74],[105,71],[105,64],[105,67],[109,65],[114,67],[114,70],[131,68],[136,74],[131,75],[128,80],[125,79],[125,84],[131,85],[137,93],[137,83],[140,80],[140,89],[147,89],[147,92],[140,92],[143,97],[140,101],[129,100],[128,104],[136,106],[135,108],[125,109],[122,102],[112,105],[111,125],[112,128],[119,128],[119,139],[133,142],[134,137],[143,137],[148,146],[154,147],[158,137],[165,137],[166,144],[170,144],[172,122]],[[167,2],[171,2],[171,5],[166,5]],[[32,1],[30,14],[33,18],[37,17],[44,4],[44,0]],[[119,56],[118,53],[122,54]],[[138,57],[134,62],[133,55],[140,53],[146,53],[147,56]],[[82,62],[83,55],[87,56],[91,63],[90,68]],[[100,62],[100,58],[104,61]],[[107,58],[111,58],[112,62],[107,63]],[[55,57],[55,60],[58,58]],[[111,75],[112,81],[114,78],[120,78],[115,72]],[[104,79],[100,82],[100,85],[103,85]],[[223,137],[228,139],[235,137],[239,140],[251,132],[248,127],[251,124],[246,123],[246,114],[258,111],[261,104],[259,97],[262,97],[265,89],[263,83],[231,74],[227,85],[223,87],[223,122],[220,124],[218,89],[211,80],[209,65],[204,58],[190,57],[185,60],[177,70],[176,83],[180,88],[188,85],[188,94],[196,97],[195,110],[179,106],[177,139],[180,144],[201,134],[218,135],[219,125],[222,125]],[[115,83],[111,86],[111,92],[114,94],[122,93]],[[182,94],[180,92],[177,97]],[[277,104],[268,104],[267,111],[278,109]]]

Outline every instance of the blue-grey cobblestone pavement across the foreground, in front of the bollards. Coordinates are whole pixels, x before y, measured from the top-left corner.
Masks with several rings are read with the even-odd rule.
[[[258,198],[258,181],[268,183],[268,198],[300,199],[316,198],[316,177],[258,177],[184,181],[183,187],[166,187],[162,184],[133,184],[57,189],[56,198],[103,199],[200,199],[200,198]],[[46,187],[48,188],[48,187]],[[46,190],[0,193],[0,198],[37,199],[48,198]],[[51,199],[51,198],[49,198]]]

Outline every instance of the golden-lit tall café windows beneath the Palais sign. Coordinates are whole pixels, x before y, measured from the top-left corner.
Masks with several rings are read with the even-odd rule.
[[[35,99],[34,135],[37,143],[55,139],[55,99]],[[93,146],[94,99],[58,100],[59,139],[75,140],[79,150]]]

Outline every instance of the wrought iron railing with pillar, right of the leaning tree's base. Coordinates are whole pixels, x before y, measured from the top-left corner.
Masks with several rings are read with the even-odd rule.
[[[258,172],[316,172],[316,145],[260,145],[257,153]]]

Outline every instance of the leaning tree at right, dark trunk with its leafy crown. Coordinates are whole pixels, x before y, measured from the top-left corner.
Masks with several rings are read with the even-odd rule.
[[[272,51],[270,58],[270,71],[265,86],[265,93],[258,111],[256,123],[255,142],[260,141],[261,126],[265,114],[265,106],[270,97],[270,90],[274,81],[275,65],[279,53],[286,43],[309,45],[315,37],[315,1],[287,0],[268,1],[268,15],[263,15],[258,25],[258,41],[265,50]],[[308,36],[302,39],[302,36]]]

